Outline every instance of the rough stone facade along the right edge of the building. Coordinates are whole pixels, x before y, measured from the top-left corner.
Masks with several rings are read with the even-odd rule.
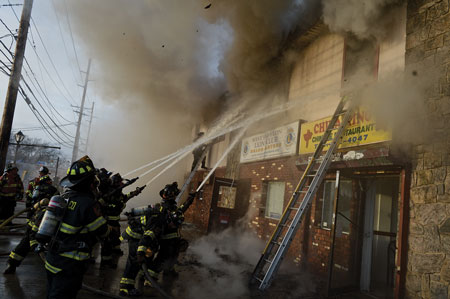
[[[430,138],[414,147],[406,298],[450,295],[449,0],[410,0],[406,74],[432,74],[424,101]],[[432,135],[432,136],[431,136]]]

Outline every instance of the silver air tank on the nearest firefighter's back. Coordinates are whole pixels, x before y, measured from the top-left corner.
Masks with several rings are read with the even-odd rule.
[[[39,242],[49,242],[56,234],[59,224],[64,216],[64,212],[66,211],[66,207],[67,200],[64,197],[55,195],[50,199],[36,234],[36,239]]]

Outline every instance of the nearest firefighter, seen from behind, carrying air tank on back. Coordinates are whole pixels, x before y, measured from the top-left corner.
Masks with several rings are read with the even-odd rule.
[[[98,239],[108,235],[109,228],[95,199],[98,179],[88,156],[71,165],[60,185],[67,191],[52,197],[37,236],[42,231],[43,237],[38,239],[41,242],[48,236],[44,232],[52,232],[45,240],[48,248],[45,262],[47,298],[76,298],[92,247]],[[61,205],[57,206],[59,203]],[[51,227],[55,221],[47,221],[47,218],[51,219],[53,207],[55,211],[58,207],[58,215],[62,215],[56,230]]]

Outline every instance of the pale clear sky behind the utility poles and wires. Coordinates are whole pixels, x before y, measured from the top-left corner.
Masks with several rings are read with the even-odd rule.
[[[10,34],[18,30],[22,6],[15,6],[14,4],[21,4],[20,0],[1,0],[0,1],[0,40],[5,44],[11,52],[15,50],[15,43],[12,42]],[[9,6],[13,4],[14,6]],[[53,128],[55,132],[64,139],[65,143],[57,142],[51,138],[45,130],[42,129],[36,116],[32,113],[30,107],[25,103],[22,96],[18,96],[16,104],[16,112],[14,115],[13,132],[16,133],[19,129],[25,134],[24,143],[28,138],[41,138],[42,142],[48,145],[62,146],[61,152],[70,158],[76,132],[76,121],[78,115],[74,110],[78,110],[73,106],[81,104],[81,97],[85,79],[85,71],[88,64],[88,55],[85,53],[78,37],[73,34],[73,42],[70,35],[69,20],[67,14],[61,11],[57,12],[53,6],[52,0],[34,1],[32,10],[32,21],[30,31],[28,34],[28,42],[26,46],[24,68],[22,74],[25,80],[32,88],[36,98],[29,90],[26,90],[28,97],[31,99],[33,105],[43,115],[44,119],[54,127],[50,121],[50,117],[45,115],[39,103],[45,108],[45,111],[51,116],[53,121],[62,125],[61,128],[65,133]],[[4,23],[4,24],[3,24]],[[71,26],[73,26],[71,24]],[[7,28],[8,27],[8,28]],[[8,59],[11,58],[7,49],[0,44],[0,48],[5,55],[0,54],[0,60],[10,65]],[[81,72],[80,72],[81,70]],[[95,61],[92,63],[91,78],[95,77],[96,65]],[[1,107],[4,106],[8,87],[9,77],[5,74],[0,74],[0,101]],[[39,83],[38,83],[39,82]],[[114,110],[114,107],[105,105],[99,101],[98,93],[95,90],[95,81],[88,83],[87,97],[85,108],[91,108],[95,101],[95,110]],[[23,84],[22,84],[23,85]],[[57,110],[50,107],[51,105]],[[38,103],[39,102],[39,103]],[[98,118],[98,113],[94,111],[93,126],[95,126]],[[82,145],[87,137],[89,126],[90,111],[85,110],[85,115],[82,122]],[[34,128],[41,127],[36,130]],[[55,133],[52,133],[54,136]],[[92,135],[91,135],[92,137]],[[58,137],[56,137],[59,140]]]

